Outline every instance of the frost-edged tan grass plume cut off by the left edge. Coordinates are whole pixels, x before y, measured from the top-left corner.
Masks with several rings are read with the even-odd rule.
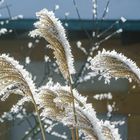
[[[10,93],[19,93],[23,96],[31,96],[31,88],[35,87],[29,74],[12,58],[0,56],[0,89],[1,96],[6,99]]]

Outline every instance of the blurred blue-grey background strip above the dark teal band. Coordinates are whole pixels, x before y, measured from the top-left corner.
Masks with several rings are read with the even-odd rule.
[[[107,0],[98,1],[98,17],[100,18]],[[76,0],[82,19],[92,18],[91,0]],[[69,12],[69,18],[77,18],[77,14],[72,0],[4,0],[5,4],[11,4],[10,11],[12,16],[22,14],[24,18],[35,18],[35,12],[43,8],[53,10],[55,5],[60,9],[56,11],[56,16],[64,18],[66,12]],[[7,17],[6,9],[0,10],[1,18]],[[140,0],[111,0],[109,13],[106,19],[118,19],[121,16],[127,19],[140,19]]]

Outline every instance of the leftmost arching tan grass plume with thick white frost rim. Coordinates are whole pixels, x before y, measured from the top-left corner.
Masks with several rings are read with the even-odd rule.
[[[33,94],[36,93],[36,87],[33,83],[32,79],[30,78],[30,74],[23,68],[22,65],[18,63],[18,61],[14,60],[13,58],[9,57],[8,55],[2,54],[0,56],[0,64],[1,68],[0,71],[6,71],[5,74],[9,76],[9,81],[7,79],[7,75],[3,77],[3,81],[8,82],[7,84],[1,83],[1,96],[5,94],[4,91],[10,90],[10,87],[17,87],[23,92],[32,92]],[[2,76],[2,75],[1,75]],[[13,77],[14,76],[14,77]],[[5,79],[4,79],[5,78]],[[11,81],[11,82],[10,82]],[[20,85],[21,84],[21,85]],[[16,88],[18,91],[19,89]],[[3,90],[2,90],[3,89]],[[20,93],[18,92],[18,93]],[[28,94],[28,93],[26,93]],[[30,93],[29,93],[30,94]]]

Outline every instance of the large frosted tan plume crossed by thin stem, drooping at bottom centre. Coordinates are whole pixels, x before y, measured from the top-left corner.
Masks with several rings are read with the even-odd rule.
[[[86,104],[86,99],[77,92],[74,92],[74,98],[76,103],[77,126],[74,123],[75,120],[72,112],[73,99],[68,87],[54,89],[52,87],[50,89],[46,87],[41,89],[38,104],[43,111],[41,113],[42,116],[60,121],[70,128],[77,127],[85,134],[86,140],[114,140],[114,134],[111,129],[97,119],[92,106]],[[113,128],[113,130],[115,129]],[[120,140],[120,137],[116,138],[116,140]]]

